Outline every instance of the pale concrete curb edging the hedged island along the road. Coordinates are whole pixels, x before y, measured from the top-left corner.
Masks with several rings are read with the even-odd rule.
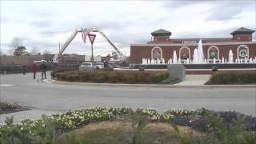
[[[74,86],[118,86],[118,87],[152,87],[152,88],[255,88],[256,85],[165,85],[165,84],[120,84],[120,83],[89,83],[89,82],[62,82],[49,79],[50,82],[60,85]]]

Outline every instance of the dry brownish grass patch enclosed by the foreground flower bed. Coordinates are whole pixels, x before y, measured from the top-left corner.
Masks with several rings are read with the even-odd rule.
[[[189,135],[191,130],[186,126],[179,126],[182,137]],[[192,130],[194,134],[199,134],[195,130]],[[131,143],[134,129],[129,121],[113,121],[113,122],[95,122],[89,125],[83,126],[77,130],[70,131],[69,135],[76,134],[80,142],[90,144],[120,144]],[[56,143],[61,144],[63,137],[66,134],[62,134]],[[145,144],[172,144],[180,143],[178,135],[175,133],[172,126],[166,123],[153,122],[149,123],[141,134],[142,143]]]

